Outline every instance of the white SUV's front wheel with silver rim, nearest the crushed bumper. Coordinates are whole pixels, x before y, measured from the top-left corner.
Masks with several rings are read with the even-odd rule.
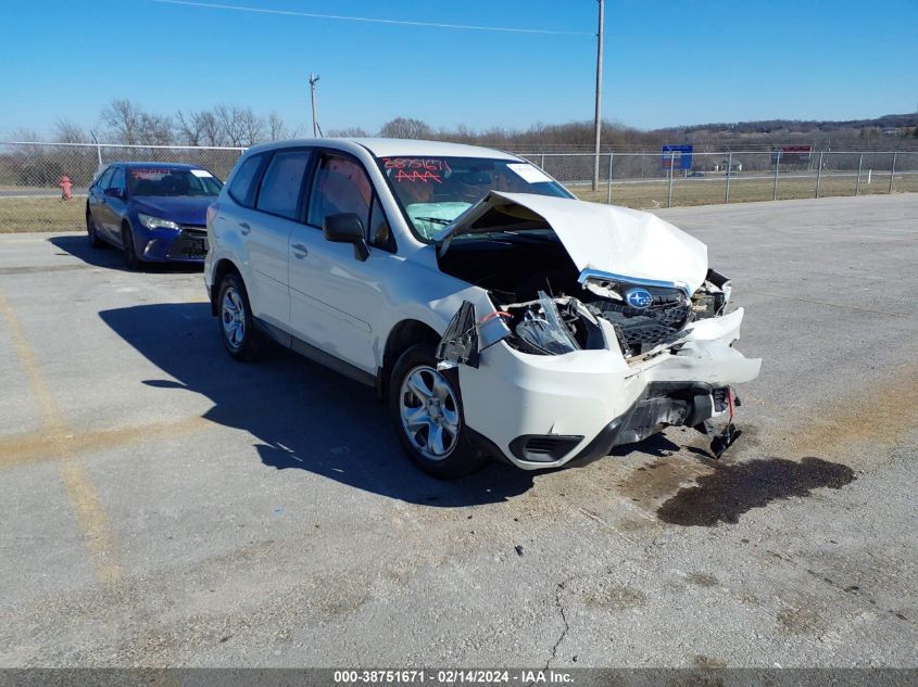
[[[458,374],[438,370],[430,344],[416,344],[395,362],[389,410],[402,448],[415,466],[440,480],[466,475],[485,462],[468,441]]]

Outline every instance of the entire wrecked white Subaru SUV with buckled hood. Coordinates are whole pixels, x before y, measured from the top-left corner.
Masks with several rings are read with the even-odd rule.
[[[742,308],[703,243],[524,160],[399,139],[252,148],[208,213],[227,351],[266,340],[376,387],[441,478],[527,470],[668,425],[732,440]],[[722,430],[720,429],[722,427]]]

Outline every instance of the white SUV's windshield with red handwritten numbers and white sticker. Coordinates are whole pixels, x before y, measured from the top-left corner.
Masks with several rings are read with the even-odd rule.
[[[379,166],[423,241],[430,241],[489,191],[574,198],[541,169],[517,160],[380,157]]]

